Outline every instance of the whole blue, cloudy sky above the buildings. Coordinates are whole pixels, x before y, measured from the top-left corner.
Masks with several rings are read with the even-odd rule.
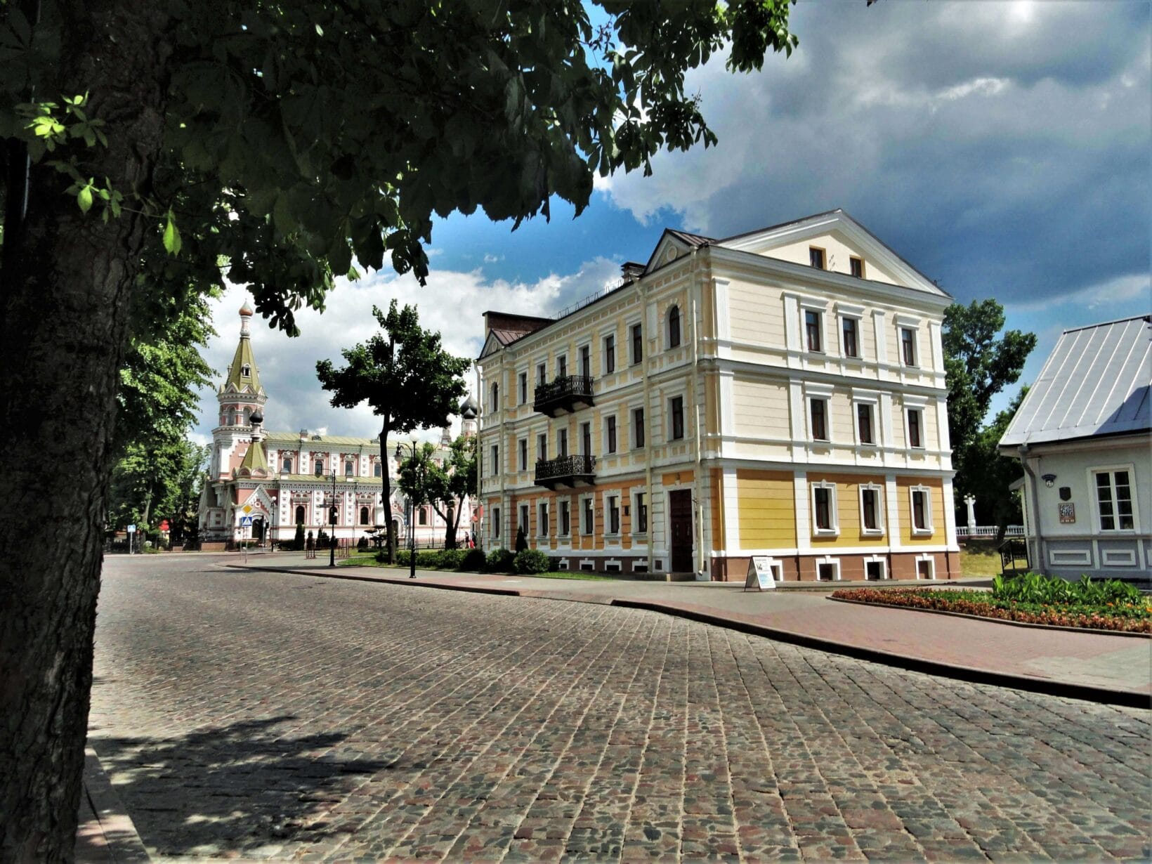
[[[1152,311],[1152,3],[801,0],[791,15],[791,58],[733,75],[721,54],[689,76],[717,146],[600,180],[577,219],[555,200],[551,222],[516,232],[440,220],[426,287],[391,271],[341,280],[323,314],[297,317],[300,338],[255,319],[266,427],[379,431],[316,379],[318,359],[339,366],[373,334],[373,304],[416,304],[475,358],[484,311],[552,314],[602,291],[666,227],[725,237],[843,207],[957,302],[994,297],[1009,328],[1036,333],[1020,384],[1063,329]],[[244,297],[213,303],[219,376]],[[205,388],[194,440],[211,440],[215,404]]]

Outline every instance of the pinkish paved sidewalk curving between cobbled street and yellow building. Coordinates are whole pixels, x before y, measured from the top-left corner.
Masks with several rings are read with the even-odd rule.
[[[410,579],[404,570],[332,569],[327,559],[290,553],[226,566],[646,608],[943,677],[1135,707],[1152,704],[1152,641],[1144,637],[836,602],[820,590],[745,592],[740,582],[545,579],[438,570],[417,570],[418,578]]]

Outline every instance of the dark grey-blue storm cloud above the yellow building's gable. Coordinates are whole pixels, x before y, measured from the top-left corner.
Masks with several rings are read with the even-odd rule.
[[[801,3],[794,25],[764,74],[697,76],[714,154],[614,200],[712,236],[842,206],[960,300],[1147,273],[1147,3]]]

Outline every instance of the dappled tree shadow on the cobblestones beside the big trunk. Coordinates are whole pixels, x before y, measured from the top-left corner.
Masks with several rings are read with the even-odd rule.
[[[281,715],[174,738],[97,737],[89,744],[149,849],[270,854],[353,831],[325,813],[385,767],[336,755],[343,734],[285,736],[293,721]]]

